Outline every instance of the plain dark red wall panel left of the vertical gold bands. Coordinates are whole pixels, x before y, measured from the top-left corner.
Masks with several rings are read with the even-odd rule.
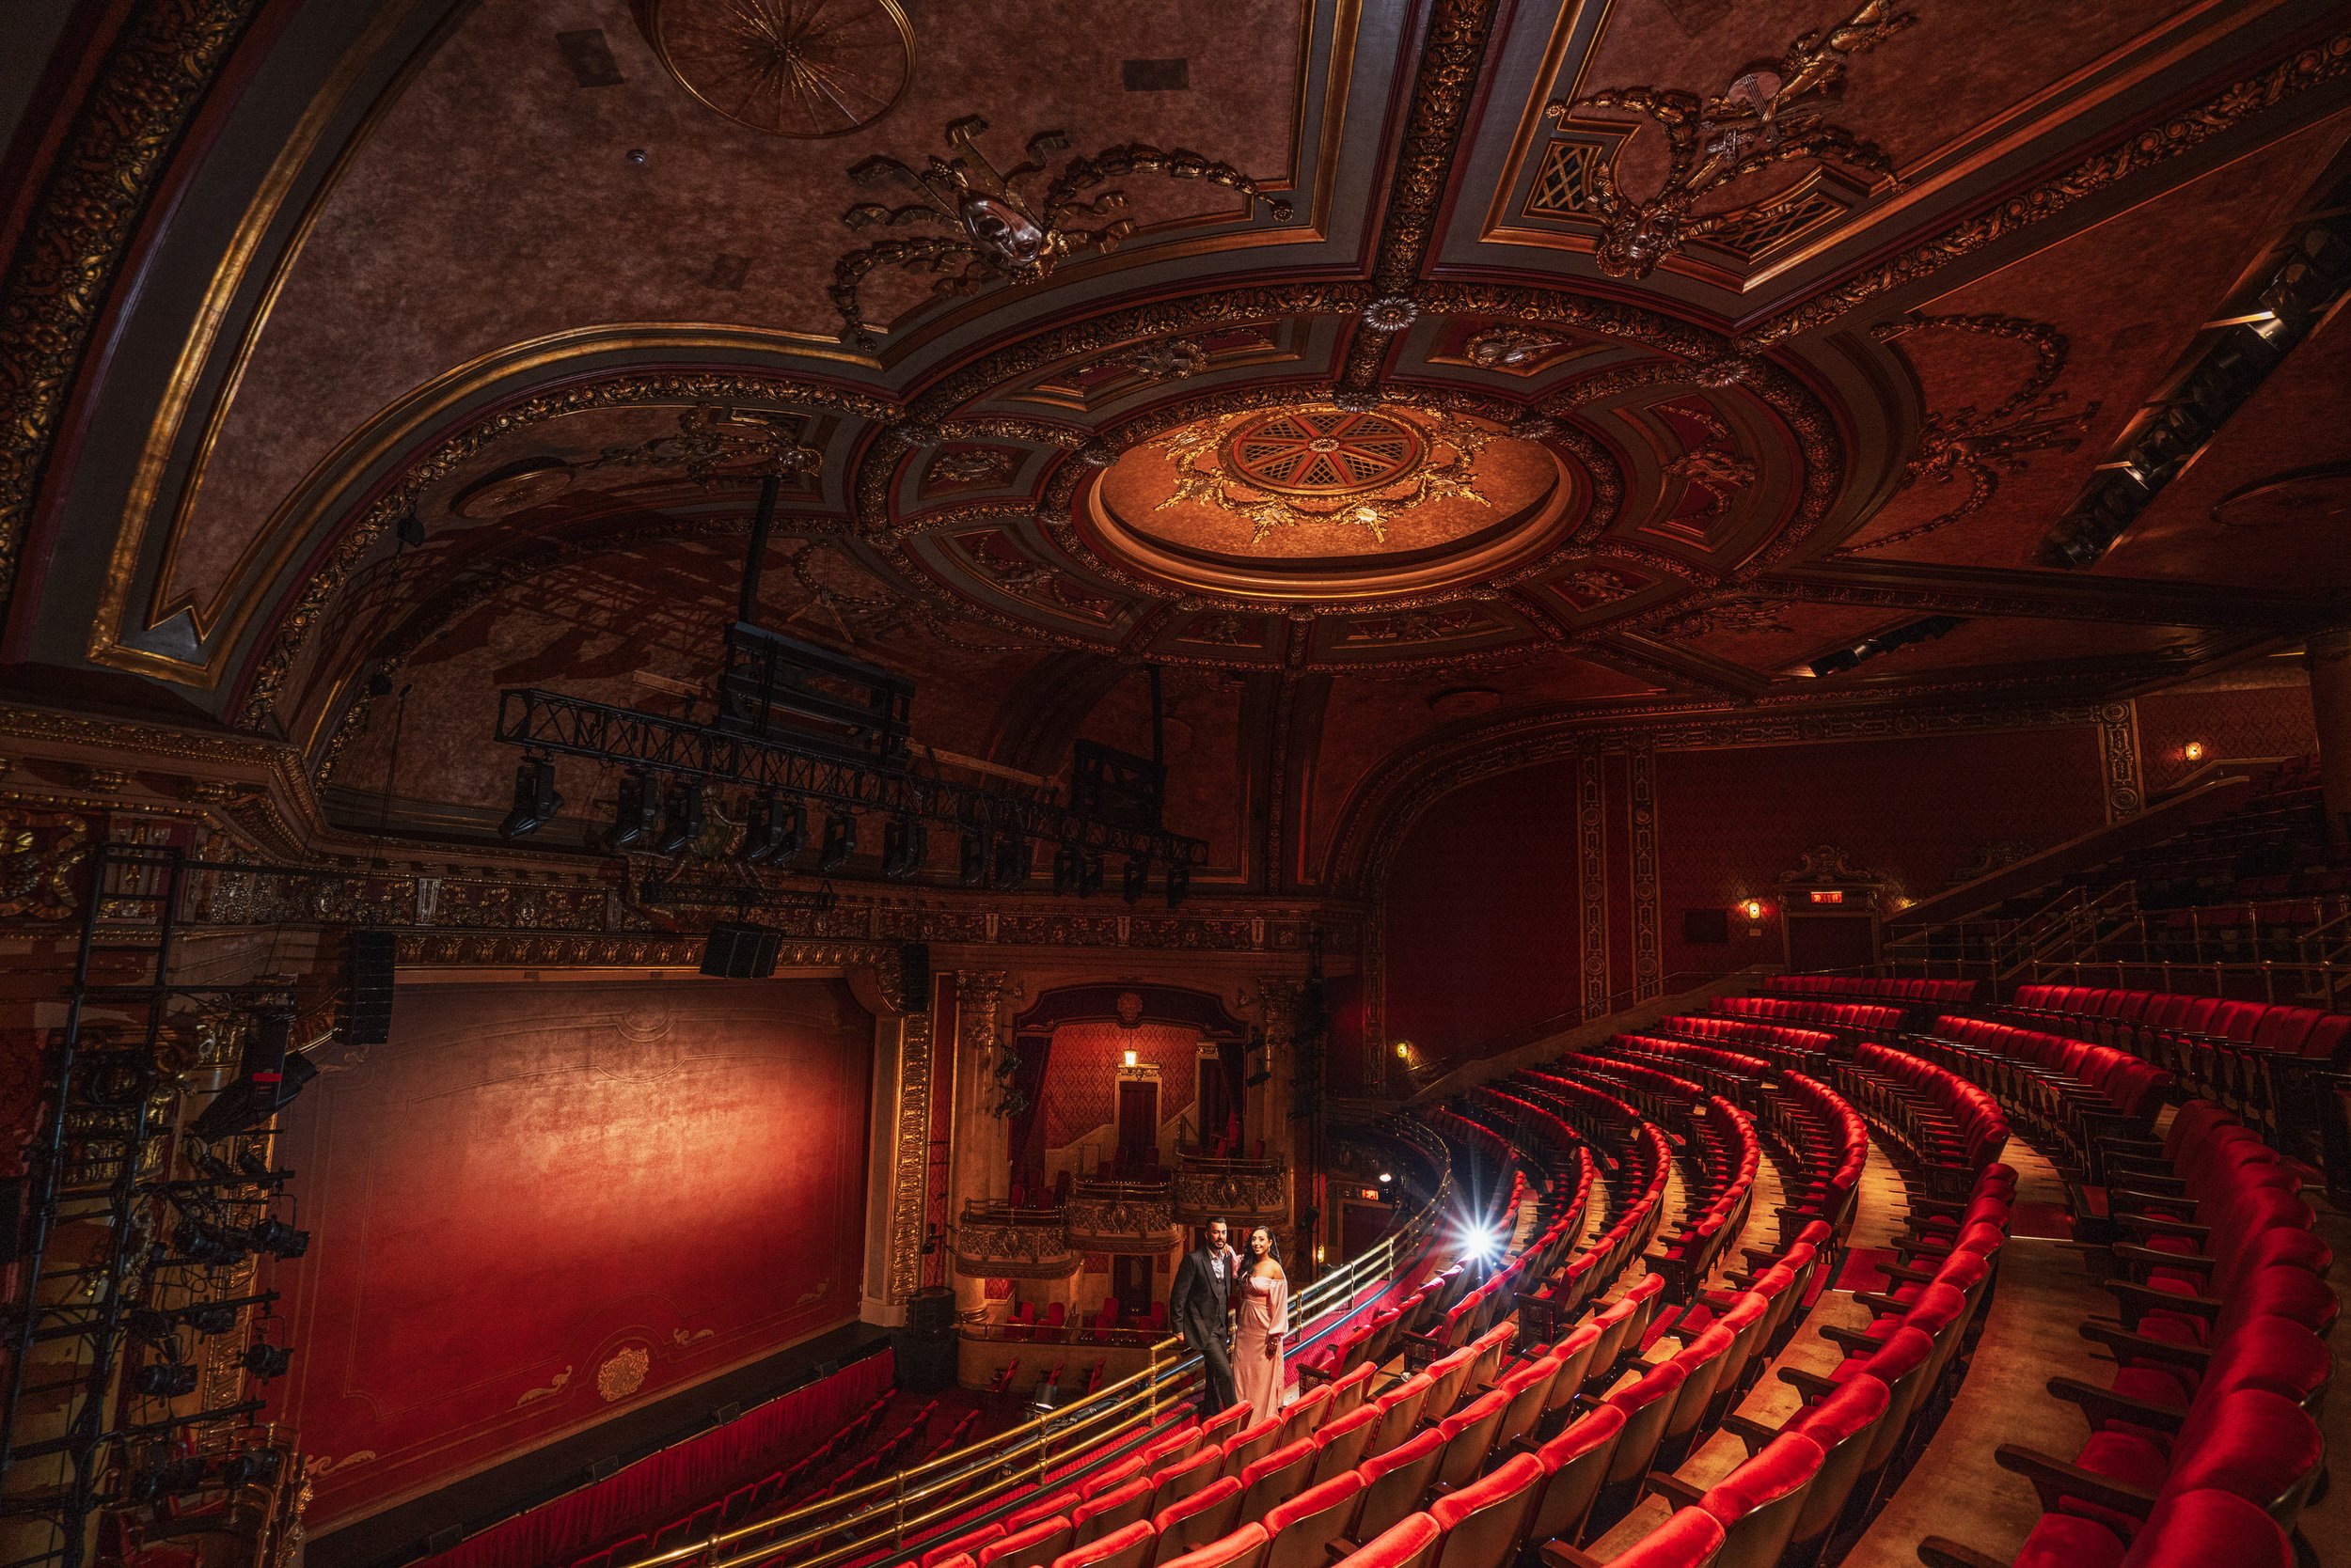
[[[1411,825],[1385,959],[1387,1039],[1436,1058],[1575,1009],[1573,766],[1479,780]]]

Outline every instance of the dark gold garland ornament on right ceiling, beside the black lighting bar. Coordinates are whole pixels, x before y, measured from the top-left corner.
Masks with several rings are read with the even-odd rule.
[[[1947,510],[1925,522],[1893,534],[1881,534],[1829,550],[1829,559],[1855,555],[1857,550],[1890,550],[1914,538],[1937,534],[1961,517],[1972,517],[1991,503],[2001,489],[2001,475],[2024,473],[2024,456],[2031,451],[2074,451],[2090,433],[2097,416],[2092,397],[2078,411],[2064,407],[2064,390],[2052,383],[2064,374],[2067,336],[2048,322],[2029,322],[2020,315],[1904,315],[1871,327],[1881,343],[1900,343],[1914,331],[1975,331],[1980,336],[2008,339],[2034,350],[2034,369],[2008,397],[1991,409],[1972,402],[1944,414],[1928,411],[1918,423],[1918,451],[1902,470],[1902,489],[1928,480],[1937,487],[1954,480],[1965,482],[1965,494]],[[1900,348],[1897,348],[1900,353]],[[1902,355],[1909,362],[1909,355]],[[1916,371],[1916,367],[1911,367]]]

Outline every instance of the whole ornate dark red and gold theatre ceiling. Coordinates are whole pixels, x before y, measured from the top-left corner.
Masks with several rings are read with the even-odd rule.
[[[2045,564],[2344,181],[2316,0],[179,0],[56,73],[14,679],[414,830],[503,799],[501,686],[710,679],[766,473],[769,625],[1044,773],[1147,750],[1161,665],[1171,825],[1274,889],[1502,726],[2083,701],[2342,614],[2339,317]]]

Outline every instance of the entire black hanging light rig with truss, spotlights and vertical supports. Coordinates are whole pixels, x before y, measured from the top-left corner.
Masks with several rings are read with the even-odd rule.
[[[557,757],[618,769],[614,816],[602,835],[614,853],[665,860],[729,856],[741,870],[790,870],[813,849],[816,872],[849,872],[860,851],[858,818],[879,818],[863,839],[879,851],[879,875],[919,879],[931,863],[931,830],[952,835],[950,875],[964,886],[1016,893],[1032,886],[1039,849],[1051,856],[1056,893],[1089,898],[1119,860],[1119,893],[1140,903],[1157,879],[1168,907],[1192,886],[1208,846],[1168,832],[1164,703],[1152,684],[1152,755],[1079,741],[1067,802],[1046,783],[964,783],[936,771],[910,733],[915,682],[835,649],[759,625],[759,576],[776,527],[783,475],[759,480],[750,548],[724,632],[717,712],[701,722],[592,703],[538,686],[498,693],[498,741],[520,745],[515,802],[501,832],[541,832],[562,811]],[[917,755],[933,766],[917,771]],[[734,795],[734,802],[729,802]],[[820,820],[818,820],[820,818]],[[729,849],[715,820],[741,823]],[[755,877],[701,889],[717,903],[771,903]],[[661,898],[654,898],[654,893]],[[691,900],[696,889],[647,877],[649,903]],[[708,898],[705,898],[708,900]]]

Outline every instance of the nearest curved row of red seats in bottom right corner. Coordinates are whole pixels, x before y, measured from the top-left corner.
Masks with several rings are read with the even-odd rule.
[[[2332,1253],[2299,1178],[2217,1105],[2184,1105],[2163,1143],[2116,1140],[2109,1164],[2132,1239],[2111,1248],[2118,1316],[2081,1333],[2116,1371],[2109,1387],[2048,1385],[2090,1422],[2071,1462],[1998,1450],[2041,1493],[2017,1563],[2283,1568],[2320,1474],[2311,1410],[2332,1371]],[[1989,1561],[1949,1540],[1928,1540],[1921,1559]]]

